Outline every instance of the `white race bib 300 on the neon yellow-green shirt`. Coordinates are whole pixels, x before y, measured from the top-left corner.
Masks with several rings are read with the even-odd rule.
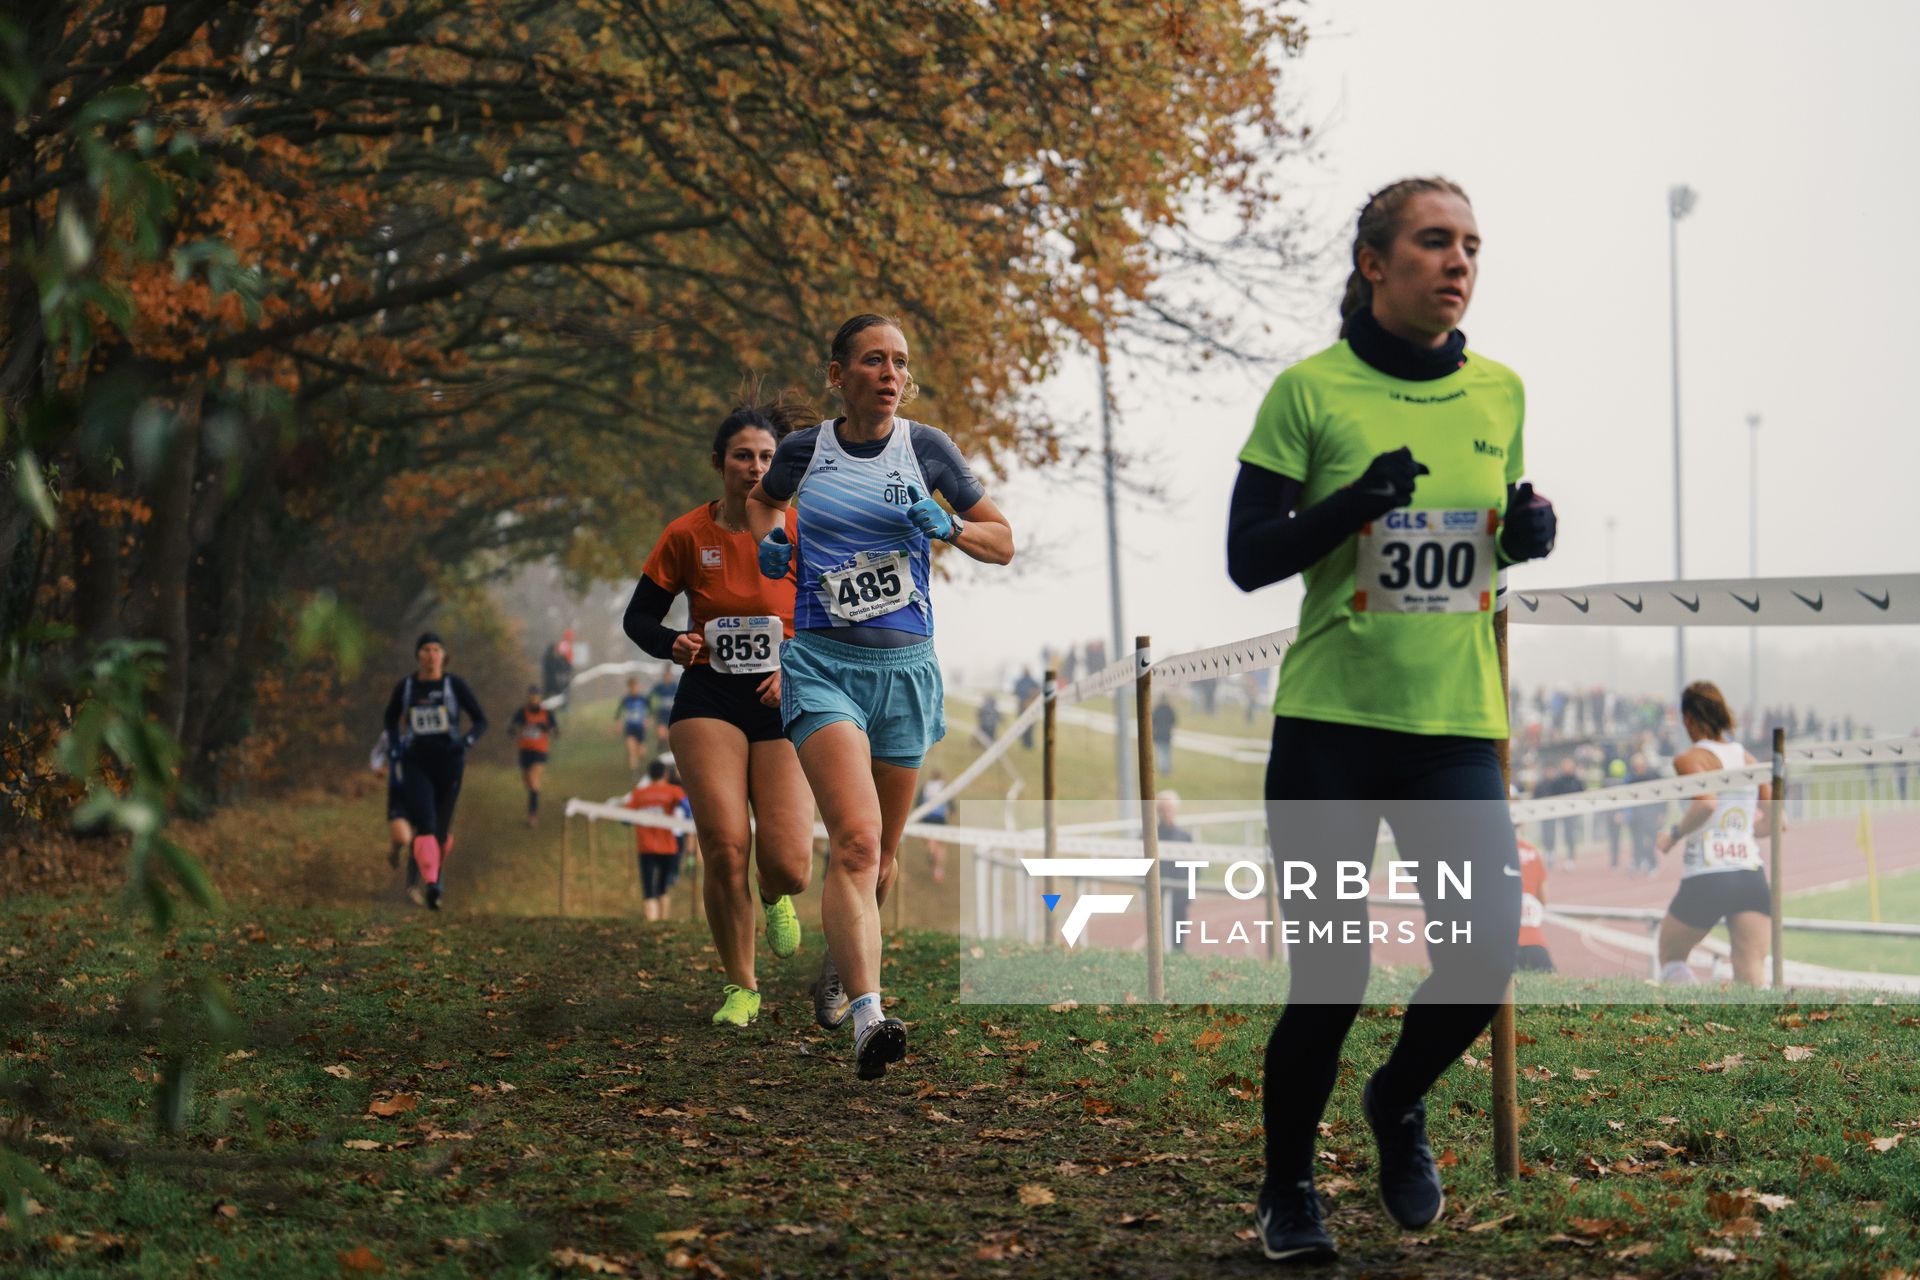
[[[1356,535],[1356,614],[1484,614],[1494,608],[1500,512],[1390,510]]]

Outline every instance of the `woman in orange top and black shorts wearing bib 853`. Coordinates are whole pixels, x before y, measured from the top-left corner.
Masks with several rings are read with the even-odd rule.
[[[747,532],[747,495],[799,416],[785,405],[743,405],[726,416],[710,459],[720,499],[666,526],[626,606],[634,643],[685,668],[668,737],[693,804],[707,860],[707,919],[728,977],[714,1025],[745,1027],[760,1015],[749,841],[760,869],[766,944],[776,956],[799,950],[793,894],[812,873],[814,798],[780,725],[780,643],[793,633],[793,578],[762,578],[758,545]],[[787,535],[795,535],[793,512]],[[687,597],[685,631],[662,622],[680,593]]]

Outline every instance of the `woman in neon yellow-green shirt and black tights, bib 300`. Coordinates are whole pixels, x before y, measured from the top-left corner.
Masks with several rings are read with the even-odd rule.
[[[1311,864],[1319,887],[1284,902],[1298,935],[1283,933],[1288,1002],[1267,1044],[1258,1228],[1277,1261],[1334,1257],[1313,1148],[1371,969],[1367,902],[1334,894],[1334,864],[1369,862],[1382,818],[1396,856],[1419,864],[1432,973],[1361,1092],[1380,1201],[1405,1228],[1444,1205],[1423,1098],[1486,1029],[1513,973],[1521,881],[1496,756],[1507,700],[1494,593],[1500,566],[1553,547],[1555,520],[1521,484],[1519,376],[1459,332],[1478,253],[1453,182],[1375,194],[1340,342],[1273,382],[1240,451],[1227,572],[1242,591],[1292,574],[1308,589],[1265,789],[1275,858]]]

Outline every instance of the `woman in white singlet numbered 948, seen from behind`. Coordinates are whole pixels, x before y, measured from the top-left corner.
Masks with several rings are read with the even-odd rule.
[[[1680,695],[1680,723],[1693,741],[1674,756],[1674,771],[1713,773],[1738,770],[1757,760],[1734,735],[1734,712],[1711,681],[1695,679]],[[1732,787],[1711,796],[1693,796],[1680,821],[1661,831],[1659,852],[1686,846],[1680,890],[1661,921],[1661,981],[1692,983],[1688,956],[1715,925],[1726,921],[1734,940],[1734,981],[1761,984],[1772,933],[1772,890],[1761,867],[1761,837],[1766,831],[1768,785]]]

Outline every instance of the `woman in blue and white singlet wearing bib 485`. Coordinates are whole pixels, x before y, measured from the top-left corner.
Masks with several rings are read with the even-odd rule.
[[[906,1055],[906,1027],[879,1007],[879,904],[920,764],[947,735],[933,539],[1006,564],[1014,530],[945,432],[895,416],[916,390],[899,324],[879,315],[841,324],[828,388],[845,416],[780,441],[747,518],[762,574],[781,578],[799,557],[780,718],[828,827],[828,961],[814,983],[814,1017],[833,1029],[852,1015],[858,1075],[874,1079]],[[785,533],[787,503],[799,509],[797,547]]]

